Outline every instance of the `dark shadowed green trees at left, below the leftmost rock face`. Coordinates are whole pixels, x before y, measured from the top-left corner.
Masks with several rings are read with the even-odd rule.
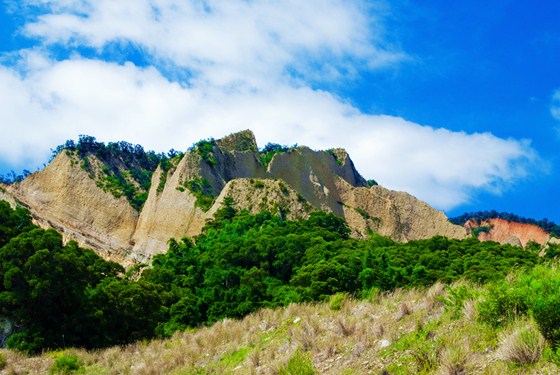
[[[0,316],[20,327],[8,338],[9,348],[34,353],[153,337],[166,298],[161,287],[121,279],[120,265],[73,241],[63,245],[55,230],[29,224],[24,211],[0,203],[0,213],[7,218]]]

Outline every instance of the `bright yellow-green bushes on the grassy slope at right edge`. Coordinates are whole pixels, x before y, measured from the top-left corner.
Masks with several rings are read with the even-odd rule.
[[[560,271],[557,267],[537,266],[518,272],[511,280],[501,280],[489,288],[479,305],[480,317],[494,326],[519,316],[532,316],[543,336],[560,344]]]

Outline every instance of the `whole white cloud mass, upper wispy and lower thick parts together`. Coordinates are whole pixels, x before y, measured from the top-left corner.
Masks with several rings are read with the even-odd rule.
[[[328,91],[405,63],[381,2],[25,3],[41,5],[22,25],[36,46],[0,66],[0,158],[14,166],[78,134],[163,151],[251,129],[261,146],[345,147],[366,178],[450,209],[538,158],[527,141],[367,114]],[[143,63],[117,58],[131,48]]]

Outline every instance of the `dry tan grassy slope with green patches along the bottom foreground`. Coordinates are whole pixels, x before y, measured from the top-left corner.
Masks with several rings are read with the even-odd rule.
[[[77,355],[86,374],[300,374],[311,367],[320,374],[560,373],[543,358],[526,365],[508,359],[512,329],[477,322],[475,301],[454,303],[453,295],[436,284],[367,301],[334,297],[330,303],[261,310],[124,348],[40,357],[1,351],[1,373],[48,373],[61,355]]]

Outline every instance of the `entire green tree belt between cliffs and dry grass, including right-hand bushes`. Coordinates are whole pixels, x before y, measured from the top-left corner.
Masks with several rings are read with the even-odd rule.
[[[523,249],[437,236],[405,244],[376,234],[358,240],[332,214],[289,221],[236,212],[231,199],[226,203],[201,235],[171,239],[152,265],[125,272],[75,242],[63,245],[59,233],[34,226],[26,210],[0,201],[0,321],[11,326],[4,328],[6,346],[36,353],[124,345],[264,307],[460,279],[492,285],[494,296],[481,302],[488,324],[507,321],[513,304],[535,317],[550,342],[560,340],[554,313],[560,273],[548,266],[555,246],[539,257],[535,243]],[[514,270],[521,276],[505,281]]]

